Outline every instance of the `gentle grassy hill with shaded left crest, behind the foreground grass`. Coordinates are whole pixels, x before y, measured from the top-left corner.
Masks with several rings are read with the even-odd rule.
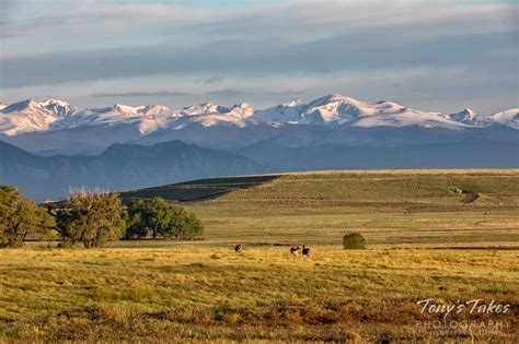
[[[462,193],[458,193],[461,189]],[[472,194],[477,194],[475,200]],[[517,246],[519,169],[314,171],[214,178],[123,193],[184,203],[221,245]]]

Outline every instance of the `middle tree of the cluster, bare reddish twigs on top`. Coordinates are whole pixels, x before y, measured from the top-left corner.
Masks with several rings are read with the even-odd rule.
[[[65,242],[81,242],[85,248],[105,246],[119,239],[126,221],[117,193],[78,191],[65,209],[57,212],[57,229]]]

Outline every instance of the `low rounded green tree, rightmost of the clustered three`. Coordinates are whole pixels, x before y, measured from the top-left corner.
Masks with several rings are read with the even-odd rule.
[[[137,200],[128,206],[128,239],[151,235],[186,237],[201,234],[204,226],[195,214],[174,205],[164,199]]]

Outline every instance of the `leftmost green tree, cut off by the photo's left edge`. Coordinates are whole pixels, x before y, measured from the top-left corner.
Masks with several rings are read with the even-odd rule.
[[[16,188],[0,187],[0,246],[23,245],[28,235],[45,235],[54,225],[54,218],[33,201],[22,199]]]

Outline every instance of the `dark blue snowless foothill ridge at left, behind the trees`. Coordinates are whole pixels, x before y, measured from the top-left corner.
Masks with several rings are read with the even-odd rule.
[[[263,166],[180,141],[150,146],[115,144],[97,156],[36,156],[0,141],[0,185],[25,195],[64,198],[72,188],[120,191],[193,178],[251,175]]]

